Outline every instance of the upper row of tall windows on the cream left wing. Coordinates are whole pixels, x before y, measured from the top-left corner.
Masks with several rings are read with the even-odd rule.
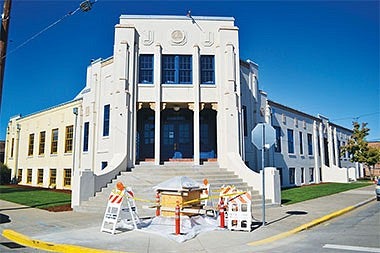
[[[50,138],[50,154],[58,153],[58,128],[51,130]],[[72,153],[73,151],[73,125],[66,126],[65,129],[65,153]],[[35,134],[29,134],[28,156],[34,155],[35,147]],[[14,139],[12,138],[11,157],[13,157]],[[46,131],[41,131],[38,135],[38,155],[44,155],[46,149]]]

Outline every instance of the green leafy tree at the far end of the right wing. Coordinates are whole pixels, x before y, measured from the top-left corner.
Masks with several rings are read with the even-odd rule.
[[[373,169],[375,164],[380,162],[380,150],[369,147],[365,137],[369,134],[367,123],[353,122],[353,133],[345,146],[341,147],[341,155],[348,152],[351,162],[359,162],[368,166],[371,180],[373,179]]]

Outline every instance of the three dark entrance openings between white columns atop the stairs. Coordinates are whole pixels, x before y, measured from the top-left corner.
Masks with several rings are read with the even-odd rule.
[[[160,161],[194,158],[193,111],[172,108],[161,111]],[[138,112],[136,159],[154,159],[154,111],[143,108]],[[200,114],[200,158],[216,158],[216,112],[210,109]]]

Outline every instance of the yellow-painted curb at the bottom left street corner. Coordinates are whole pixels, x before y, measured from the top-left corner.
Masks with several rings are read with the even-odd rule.
[[[69,244],[55,244],[50,242],[44,242],[40,240],[34,240],[32,238],[29,238],[23,234],[17,233],[16,231],[13,231],[11,229],[4,229],[2,236],[7,238],[8,240],[11,240],[13,242],[16,242],[18,244],[21,244],[23,246],[27,246],[30,248],[35,249],[41,249],[45,251],[52,251],[52,252],[65,252],[65,253],[71,253],[71,252],[81,252],[81,253],[121,253],[121,251],[110,251],[110,250],[100,250],[100,249],[91,249],[76,245],[69,245]]]

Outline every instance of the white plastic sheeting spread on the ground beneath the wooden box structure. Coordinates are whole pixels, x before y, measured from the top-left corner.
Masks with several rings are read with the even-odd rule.
[[[180,218],[180,235],[175,234],[174,217],[158,216],[141,221],[138,224],[139,231],[158,234],[181,243],[196,237],[200,233],[222,230],[218,227],[219,218],[201,215],[193,217],[181,216]],[[118,228],[131,230],[133,229],[133,224],[130,221],[121,220],[120,223],[118,223]]]

